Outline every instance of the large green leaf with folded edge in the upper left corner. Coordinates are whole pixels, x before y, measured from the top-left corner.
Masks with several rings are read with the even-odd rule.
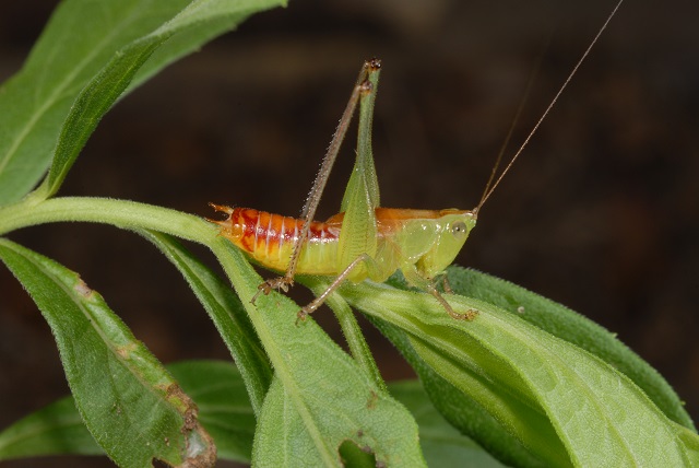
[[[55,194],[125,91],[283,0],[68,0],[23,69],[0,90],[0,204],[19,200],[54,159]]]

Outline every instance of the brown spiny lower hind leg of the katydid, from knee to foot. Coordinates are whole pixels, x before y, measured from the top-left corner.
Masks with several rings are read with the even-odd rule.
[[[362,70],[359,71],[359,75],[357,77],[357,81],[355,83],[354,89],[352,90],[352,95],[350,96],[350,101],[347,102],[347,106],[340,118],[340,122],[337,124],[337,128],[335,129],[335,133],[330,141],[330,145],[328,147],[328,151],[325,152],[325,156],[323,157],[323,162],[320,166],[320,171],[318,171],[318,175],[316,176],[316,180],[308,194],[308,198],[306,199],[306,203],[304,204],[304,209],[301,210],[301,218],[304,218],[304,225],[301,231],[294,243],[294,250],[292,251],[292,257],[289,258],[288,267],[286,268],[286,272],[283,277],[272,278],[270,280],[264,281],[258,286],[258,292],[252,296],[252,304],[257,300],[260,293],[269,294],[272,290],[282,290],[284,292],[288,291],[288,288],[294,285],[294,277],[296,276],[296,269],[298,266],[298,260],[300,258],[300,253],[304,247],[304,243],[308,238],[308,231],[310,229],[310,223],[316,215],[316,210],[318,209],[318,204],[320,203],[320,198],[325,188],[325,184],[328,178],[330,177],[330,172],[332,171],[332,166],[335,163],[335,159],[337,157],[337,153],[340,152],[340,147],[342,145],[342,141],[347,133],[347,128],[350,127],[350,122],[352,121],[352,116],[354,115],[354,110],[357,107],[357,103],[359,98],[366,93],[371,92],[371,83],[368,81],[369,73],[381,68],[381,61],[379,59],[371,59],[364,62]]]

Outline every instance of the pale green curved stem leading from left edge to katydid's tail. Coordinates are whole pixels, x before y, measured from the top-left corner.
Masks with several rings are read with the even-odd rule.
[[[218,230],[203,219],[168,208],[128,200],[60,197],[25,200],[0,208],[0,235],[17,229],[55,222],[95,222],[121,229],[149,229],[211,245]]]

